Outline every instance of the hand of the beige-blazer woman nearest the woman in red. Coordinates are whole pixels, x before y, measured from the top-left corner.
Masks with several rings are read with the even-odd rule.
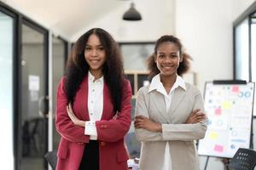
[[[145,116],[135,116],[135,128],[144,128],[151,132],[162,132],[162,125],[159,122],[153,122]]]

